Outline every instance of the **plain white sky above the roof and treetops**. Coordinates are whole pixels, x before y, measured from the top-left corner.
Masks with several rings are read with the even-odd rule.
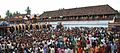
[[[120,0],[0,0],[0,15],[6,16],[6,11],[19,11],[25,14],[27,6],[31,9],[31,14],[42,14],[44,11],[69,9],[76,7],[86,7],[94,5],[108,4],[115,10],[120,10]]]

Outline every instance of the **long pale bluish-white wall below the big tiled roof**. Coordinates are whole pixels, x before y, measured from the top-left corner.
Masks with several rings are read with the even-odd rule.
[[[52,24],[53,27],[61,22],[64,27],[108,27],[108,23],[113,20],[100,20],[100,21],[58,21],[58,22],[48,22]],[[44,23],[44,22],[43,22]]]

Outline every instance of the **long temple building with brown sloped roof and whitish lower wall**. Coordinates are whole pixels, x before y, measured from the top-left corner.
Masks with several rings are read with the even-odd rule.
[[[46,11],[40,15],[40,22],[49,22],[54,26],[62,22],[65,27],[108,27],[118,14],[109,5],[88,6]]]

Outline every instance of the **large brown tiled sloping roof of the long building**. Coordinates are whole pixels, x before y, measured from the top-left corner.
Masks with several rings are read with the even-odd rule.
[[[118,13],[109,5],[98,5],[71,9],[61,9],[55,11],[46,11],[40,17],[60,17],[60,16],[82,16],[82,15],[101,15]]]

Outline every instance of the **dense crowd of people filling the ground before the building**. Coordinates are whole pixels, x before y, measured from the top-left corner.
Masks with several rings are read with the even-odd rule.
[[[58,25],[9,33],[0,39],[0,53],[120,53],[119,37],[107,28]]]

